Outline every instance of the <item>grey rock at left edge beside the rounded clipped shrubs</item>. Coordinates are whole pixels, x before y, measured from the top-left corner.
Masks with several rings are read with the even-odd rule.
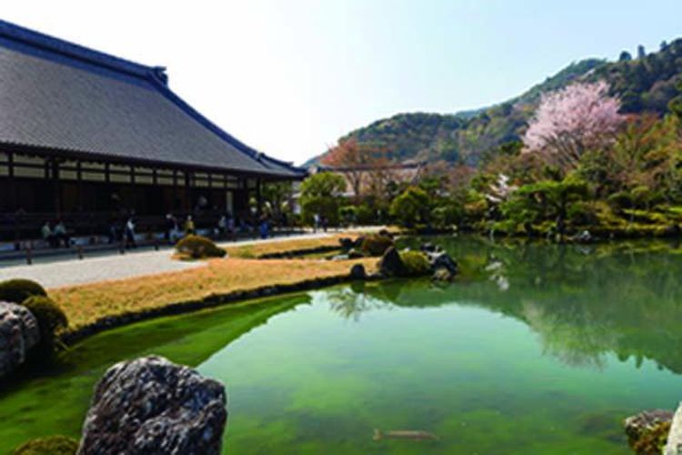
[[[29,349],[40,341],[35,316],[15,303],[0,302],[0,377],[25,362]]]

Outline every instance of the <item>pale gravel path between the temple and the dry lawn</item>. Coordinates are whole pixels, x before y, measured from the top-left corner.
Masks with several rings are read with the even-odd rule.
[[[230,243],[229,246],[250,245],[260,242],[277,242],[293,238],[323,238],[331,234],[306,234],[300,236],[269,238],[267,240],[245,240]],[[154,275],[163,272],[204,267],[202,262],[183,262],[171,259],[170,248],[160,251],[139,251],[125,255],[117,251],[95,258],[77,260],[54,258],[32,266],[15,265],[0,267],[0,281],[10,278],[28,278],[45,288],[58,288],[75,284],[93,283],[107,279],[121,279]]]

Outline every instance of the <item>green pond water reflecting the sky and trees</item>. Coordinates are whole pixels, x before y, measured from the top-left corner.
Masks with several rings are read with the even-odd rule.
[[[677,245],[435,241],[463,268],[446,287],[357,283],[87,339],[3,386],[0,453],[77,437],[103,371],[150,353],[225,382],[226,453],[629,453],[621,421],[682,399]]]

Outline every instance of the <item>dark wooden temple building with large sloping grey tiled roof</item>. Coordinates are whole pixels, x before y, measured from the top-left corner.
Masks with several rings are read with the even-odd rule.
[[[230,136],[144,66],[0,21],[0,240],[45,220],[83,234],[135,213],[253,215],[303,169]]]

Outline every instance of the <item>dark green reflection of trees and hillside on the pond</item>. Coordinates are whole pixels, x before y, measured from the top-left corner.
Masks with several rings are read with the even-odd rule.
[[[434,241],[434,239],[430,239]],[[682,374],[682,250],[650,240],[594,247],[438,238],[460,263],[456,283],[367,283],[335,291],[332,309],[359,320],[375,308],[464,305],[521,320],[567,365],[654,360]],[[418,240],[414,240],[416,244]],[[413,245],[414,246],[414,245]]]

